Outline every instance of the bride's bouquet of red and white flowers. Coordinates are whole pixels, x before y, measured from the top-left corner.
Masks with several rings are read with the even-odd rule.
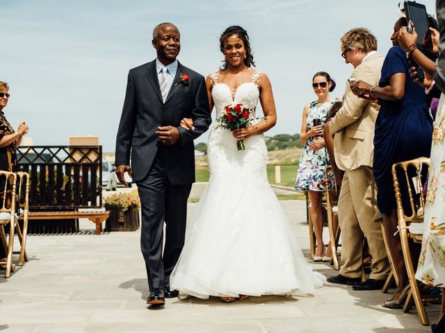
[[[239,130],[240,128],[248,127],[254,118],[254,110],[249,109],[243,104],[232,103],[225,107],[225,114],[216,119],[216,128],[225,128],[226,130]],[[236,142],[238,151],[244,151],[245,146],[243,140]]]

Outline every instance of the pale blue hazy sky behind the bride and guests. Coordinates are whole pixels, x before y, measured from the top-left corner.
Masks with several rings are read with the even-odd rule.
[[[104,152],[113,152],[128,71],[156,58],[154,26],[176,24],[178,60],[207,76],[223,60],[220,34],[236,24],[250,35],[255,69],[272,83],[277,124],[266,135],[300,133],[302,108],[316,99],[317,71],[336,80],[333,97],[343,95],[353,67],[340,56],[340,37],[369,28],[385,56],[400,2],[0,0],[0,80],[11,94],[3,112],[14,128],[29,124],[35,145],[98,135]],[[418,2],[435,14],[435,0]]]

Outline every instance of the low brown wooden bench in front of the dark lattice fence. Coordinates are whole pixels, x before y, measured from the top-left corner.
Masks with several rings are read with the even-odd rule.
[[[89,219],[93,223],[96,223],[96,234],[102,232],[102,222],[108,219],[110,212],[29,212],[29,220],[53,220],[53,219]],[[20,215],[19,219],[23,219],[23,215]]]

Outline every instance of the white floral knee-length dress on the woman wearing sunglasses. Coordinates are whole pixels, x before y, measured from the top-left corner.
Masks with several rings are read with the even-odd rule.
[[[321,119],[321,125],[325,125],[326,116],[335,99],[325,103],[312,102],[307,111],[306,125],[310,130],[314,126],[314,119]],[[318,151],[309,151],[309,146],[316,140],[316,137],[309,137],[298,164],[297,180],[295,188],[300,191],[325,191],[325,167],[330,165],[329,155],[325,148]],[[332,179],[329,182],[329,190],[334,191],[334,174],[330,171],[328,177]]]

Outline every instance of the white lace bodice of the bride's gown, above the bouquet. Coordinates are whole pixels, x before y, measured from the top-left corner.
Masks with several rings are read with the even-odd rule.
[[[232,91],[227,84],[218,82],[218,72],[209,74],[213,83],[211,96],[213,103],[215,103],[216,117],[222,116],[225,106],[232,104],[232,102],[241,103],[250,109],[255,109],[259,99],[260,77],[261,72],[254,71],[250,82],[245,82]]]

